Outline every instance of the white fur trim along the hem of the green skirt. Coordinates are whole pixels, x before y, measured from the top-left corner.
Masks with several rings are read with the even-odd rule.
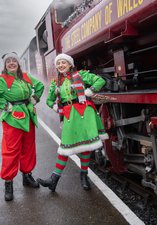
[[[102,146],[103,144],[101,140],[98,140],[97,142],[94,142],[91,144],[80,145],[80,146],[69,148],[69,149],[64,149],[61,146],[59,146],[58,154],[69,156],[69,155],[74,155],[74,154],[78,154],[78,153],[86,152],[86,151],[95,151],[96,149],[101,148]]]

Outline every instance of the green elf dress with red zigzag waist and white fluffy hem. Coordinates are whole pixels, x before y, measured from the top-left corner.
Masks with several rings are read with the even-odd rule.
[[[58,84],[52,81],[46,102],[53,108],[58,99],[59,113],[63,116],[58,154],[69,156],[102,147],[102,140],[108,139],[108,134],[94,103],[87,100],[84,90],[92,87],[94,91],[99,91],[105,85],[105,80],[83,70],[60,74],[59,80]]]

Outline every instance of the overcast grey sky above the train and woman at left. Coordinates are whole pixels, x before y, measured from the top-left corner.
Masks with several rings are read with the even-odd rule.
[[[19,56],[35,36],[35,26],[52,0],[0,0],[0,69],[3,54]]]

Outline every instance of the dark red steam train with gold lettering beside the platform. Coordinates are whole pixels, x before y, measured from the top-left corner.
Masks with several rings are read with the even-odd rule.
[[[104,89],[93,98],[101,104],[110,135],[103,152],[96,154],[97,162],[109,161],[115,173],[139,174],[142,184],[155,193],[156,22],[157,0],[56,0],[22,55],[24,69],[45,82],[56,76],[53,62],[60,52],[73,56],[78,70],[106,79]]]

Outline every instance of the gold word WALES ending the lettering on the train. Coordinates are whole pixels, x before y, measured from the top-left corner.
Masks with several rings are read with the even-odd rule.
[[[143,1],[144,0],[117,0],[118,18],[139,7]]]

